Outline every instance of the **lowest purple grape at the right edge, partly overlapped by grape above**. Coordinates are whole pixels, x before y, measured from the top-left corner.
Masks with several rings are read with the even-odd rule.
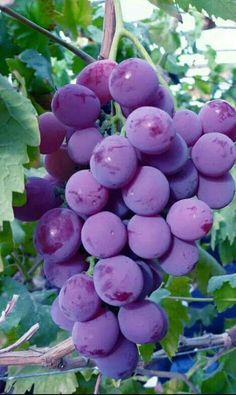
[[[207,177],[200,175],[197,196],[213,209],[220,209],[229,205],[235,193],[235,182],[230,173],[221,177]]]

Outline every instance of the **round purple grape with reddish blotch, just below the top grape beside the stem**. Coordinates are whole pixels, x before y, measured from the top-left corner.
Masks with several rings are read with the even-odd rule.
[[[165,111],[155,107],[140,107],[126,120],[127,138],[141,152],[160,154],[170,148],[174,139],[172,123]]]

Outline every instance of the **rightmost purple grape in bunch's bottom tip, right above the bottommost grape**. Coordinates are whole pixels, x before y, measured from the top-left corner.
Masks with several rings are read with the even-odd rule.
[[[158,304],[149,300],[121,307],[118,320],[122,334],[137,344],[159,342],[168,330],[166,313]]]

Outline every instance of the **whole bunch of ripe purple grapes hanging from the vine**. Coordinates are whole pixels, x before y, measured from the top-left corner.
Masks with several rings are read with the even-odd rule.
[[[112,100],[126,118],[126,137],[99,130],[101,108]],[[148,299],[161,271],[194,269],[212,209],[234,197],[236,111],[213,100],[199,114],[175,112],[147,62],[103,60],[58,89],[39,128],[49,175],[28,180],[16,217],[39,220],[35,246],[60,289],[54,322],[105,376],[127,378],[137,345],[159,342],[168,330],[166,313]]]

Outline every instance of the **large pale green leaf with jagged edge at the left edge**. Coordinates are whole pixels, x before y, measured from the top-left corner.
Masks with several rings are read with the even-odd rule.
[[[12,193],[24,192],[27,146],[39,145],[36,112],[0,75],[0,226],[13,220]]]

